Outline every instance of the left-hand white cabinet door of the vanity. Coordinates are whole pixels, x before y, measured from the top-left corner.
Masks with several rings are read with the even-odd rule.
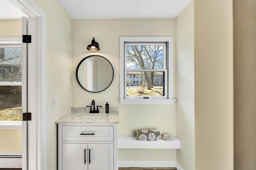
[[[88,170],[87,144],[62,144],[62,170]]]

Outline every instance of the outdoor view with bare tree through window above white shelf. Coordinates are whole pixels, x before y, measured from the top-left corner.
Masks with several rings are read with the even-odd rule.
[[[164,84],[158,83],[159,80],[164,80],[166,71],[164,61],[164,45],[161,43],[160,45],[127,43],[126,75],[134,74],[132,81],[135,84],[136,80],[137,83],[135,87],[126,89],[126,95],[164,96]]]

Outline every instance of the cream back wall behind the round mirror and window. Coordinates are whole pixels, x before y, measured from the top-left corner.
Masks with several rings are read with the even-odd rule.
[[[174,36],[175,19],[123,19],[123,20],[72,20],[72,106],[84,107],[94,99],[96,105],[119,107],[118,136],[135,136],[135,130],[156,128],[161,133],[176,136],[174,105],[120,105],[119,103],[119,39],[120,36]],[[86,46],[92,37],[100,45],[100,51],[90,52]],[[100,93],[83,90],[76,81],[76,66],[88,55],[102,55],[114,67],[114,80]],[[175,54],[174,54],[175,56]],[[133,154],[130,157],[130,153]],[[119,150],[119,160],[175,160],[175,150]],[[148,155],[151,155],[148,158]]]

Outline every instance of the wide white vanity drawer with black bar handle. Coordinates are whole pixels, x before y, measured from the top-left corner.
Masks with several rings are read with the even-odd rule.
[[[114,127],[62,126],[62,141],[114,141]]]

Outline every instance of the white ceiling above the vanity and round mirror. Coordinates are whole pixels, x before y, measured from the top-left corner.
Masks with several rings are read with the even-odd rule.
[[[176,18],[191,0],[60,0],[72,19]]]

